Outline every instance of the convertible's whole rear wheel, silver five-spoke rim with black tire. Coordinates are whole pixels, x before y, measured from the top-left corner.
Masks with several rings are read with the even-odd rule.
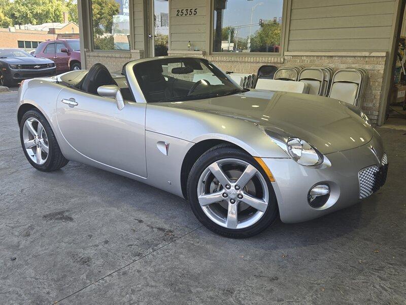
[[[48,121],[37,110],[24,113],[20,124],[20,139],[25,157],[38,170],[53,171],[69,162],[63,157]]]

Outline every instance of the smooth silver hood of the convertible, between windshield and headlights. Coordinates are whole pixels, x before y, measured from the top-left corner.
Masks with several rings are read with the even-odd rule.
[[[251,90],[164,104],[252,121],[270,136],[278,133],[301,138],[323,154],[364,145],[373,137],[373,128],[345,102],[314,95]]]

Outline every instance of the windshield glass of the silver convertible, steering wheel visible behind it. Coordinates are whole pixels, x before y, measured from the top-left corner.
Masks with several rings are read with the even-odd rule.
[[[149,103],[216,98],[245,92],[206,59],[181,57],[135,65],[134,74]]]

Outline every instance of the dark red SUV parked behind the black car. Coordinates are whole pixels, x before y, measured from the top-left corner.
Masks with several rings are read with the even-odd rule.
[[[79,39],[44,41],[38,45],[34,56],[53,60],[57,73],[80,70],[82,68],[80,64]]]

